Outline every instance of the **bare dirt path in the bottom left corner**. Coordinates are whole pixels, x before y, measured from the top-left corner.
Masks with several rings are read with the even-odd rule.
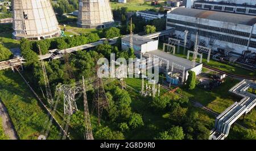
[[[2,100],[0,100],[0,117],[2,119],[2,127],[5,134],[11,140],[18,140],[19,137],[14,129],[13,123],[11,122],[10,116],[6,110],[6,107],[3,105]]]

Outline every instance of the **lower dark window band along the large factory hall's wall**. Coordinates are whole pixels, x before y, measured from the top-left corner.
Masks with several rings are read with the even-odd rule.
[[[195,30],[193,28],[177,26],[175,24],[170,24],[170,23],[167,23],[167,26],[174,27],[178,31],[188,30],[189,32],[191,32],[193,34],[196,34],[196,32],[198,32],[198,34],[200,36],[209,37],[209,38],[213,38],[213,39],[217,39],[217,40],[221,40],[221,41],[227,41],[229,43],[234,43],[234,44],[239,44],[239,45],[244,45],[244,46],[247,46],[247,43],[248,43],[248,40],[241,39],[241,38],[234,37],[234,36],[222,35],[222,34],[218,34],[218,33],[202,31],[202,30]],[[251,41],[250,47],[256,48],[256,41]]]

